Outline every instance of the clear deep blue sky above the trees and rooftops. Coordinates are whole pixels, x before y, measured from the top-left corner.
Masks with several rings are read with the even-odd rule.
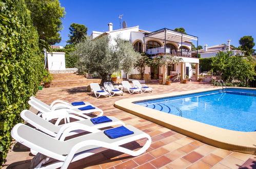
[[[127,27],[139,25],[140,29],[155,31],[162,28],[185,28],[199,37],[199,45],[221,45],[231,39],[239,46],[242,36],[250,35],[256,42],[256,1],[84,1],[60,0],[65,7],[62,41],[69,39],[70,24],[84,24],[87,34],[107,31],[108,23],[119,29],[119,14]],[[254,49],[256,47],[254,46]]]

